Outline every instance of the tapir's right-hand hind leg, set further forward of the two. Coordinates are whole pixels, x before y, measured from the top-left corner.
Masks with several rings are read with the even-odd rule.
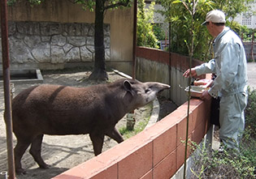
[[[40,168],[49,168],[44,160],[41,158],[41,142],[43,139],[43,134],[37,135],[37,137],[33,140],[29,153],[33,156],[34,160],[40,166]]]

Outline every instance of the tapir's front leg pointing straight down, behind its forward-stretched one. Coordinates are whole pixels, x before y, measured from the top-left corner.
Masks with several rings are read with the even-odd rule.
[[[93,142],[94,155],[98,156],[100,153],[102,153],[104,134],[98,134],[97,132],[93,132],[89,134],[89,137]]]

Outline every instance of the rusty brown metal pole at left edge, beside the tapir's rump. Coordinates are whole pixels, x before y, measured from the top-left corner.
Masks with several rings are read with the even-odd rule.
[[[10,92],[10,59],[8,45],[7,0],[1,0],[1,33],[2,33],[2,76],[4,87],[4,118],[7,126],[7,157],[9,178],[15,178],[14,152],[12,143],[12,117]]]

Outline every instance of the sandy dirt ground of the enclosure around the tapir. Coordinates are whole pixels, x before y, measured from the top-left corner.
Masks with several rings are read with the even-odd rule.
[[[63,84],[77,87],[85,87],[92,85],[88,80],[81,80],[84,77],[89,76],[89,71],[81,70],[59,70],[59,71],[43,71],[44,83]],[[110,81],[123,78],[120,75],[116,75],[114,72],[108,72]],[[15,84],[15,94],[19,94],[25,88],[37,84]],[[159,100],[159,99],[158,99]],[[176,109],[176,105],[170,100],[160,98],[160,118],[166,116]],[[150,105],[146,105],[141,109],[135,111],[136,120],[143,120],[148,117],[151,112]],[[0,173],[7,171],[7,143],[6,143],[6,125],[3,121],[3,87],[0,86]],[[125,117],[119,121],[117,127],[126,125]],[[25,131],[24,131],[25,132]],[[16,140],[14,135],[14,146]],[[105,138],[102,151],[106,151],[111,147],[114,147],[117,143],[109,138]],[[29,148],[29,147],[28,147]],[[32,156],[25,152],[22,158],[23,168],[27,170],[26,175],[16,175],[18,179],[47,179],[63,173],[69,168],[75,167],[77,164],[85,162],[91,159],[93,154],[93,146],[89,139],[89,135],[65,135],[65,136],[50,136],[45,135],[41,148],[42,158],[46,164],[50,164],[51,168],[41,169],[33,160]],[[3,176],[0,176],[3,178]]]

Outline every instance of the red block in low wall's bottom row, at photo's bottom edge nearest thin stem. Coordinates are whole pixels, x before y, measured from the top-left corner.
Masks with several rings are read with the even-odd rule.
[[[176,150],[165,157],[157,166],[154,167],[153,178],[170,178],[176,173]]]

